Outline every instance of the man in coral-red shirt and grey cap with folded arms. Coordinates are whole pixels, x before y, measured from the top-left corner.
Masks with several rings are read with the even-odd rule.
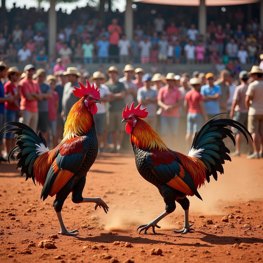
[[[42,93],[39,84],[33,79],[35,67],[31,64],[24,67],[26,77],[20,80],[18,88],[20,89],[20,109],[22,117],[19,122],[22,122],[31,127],[37,132],[38,124],[38,101],[42,100]]]

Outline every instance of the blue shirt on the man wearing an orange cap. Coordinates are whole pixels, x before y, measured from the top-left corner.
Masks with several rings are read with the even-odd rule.
[[[202,95],[215,95],[216,93],[219,93],[221,95],[221,88],[217,85],[213,85],[213,87],[210,89],[209,84],[206,84],[201,87],[200,93]],[[206,114],[219,114],[220,113],[220,106],[219,106],[219,100],[209,100],[204,101],[204,107]]]

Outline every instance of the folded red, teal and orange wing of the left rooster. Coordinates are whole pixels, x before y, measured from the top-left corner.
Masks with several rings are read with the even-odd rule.
[[[41,192],[43,201],[48,195],[54,196],[57,194],[57,192],[79,170],[88,149],[89,139],[87,136],[75,137],[59,145],[59,153],[48,171]]]

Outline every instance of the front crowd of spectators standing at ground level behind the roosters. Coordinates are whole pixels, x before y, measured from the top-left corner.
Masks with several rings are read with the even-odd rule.
[[[135,101],[142,103],[142,108],[147,107],[146,122],[173,149],[178,149],[178,142],[185,140],[180,145],[187,154],[193,136],[204,122],[228,112],[230,115],[223,118],[237,120],[252,134],[254,144],[250,142],[247,158],[262,156],[263,70],[259,66],[254,65],[250,72],[241,71],[235,80],[227,69],[222,69],[218,78],[213,73],[198,71],[192,75],[167,73],[163,76],[148,74],[143,68],[127,64],[122,78],[115,66],[109,67],[106,74],[100,69],[88,78],[78,68],[64,68],[61,59],[54,67],[54,74],[49,75],[43,68],[35,70],[32,64],[27,64],[23,73],[7,64],[0,62],[0,126],[19,120],[34,131],[41,130],[51,148],[62,139],[69,110],[79,100],[72,92],[74,86],[78,86],[78,81],[86,84],[88,79],[98,86],[102,101],[94,115],[101,152],[123,150],[126,140],[123,140],[122,111],[126,104]],[[233,155],[239,156],[242,136],[236,129],[233,133],[237,141]],[[3,133],[0,135],[0,161],[6,161],[15,140],[12,132],[4,134],[2,156]]]

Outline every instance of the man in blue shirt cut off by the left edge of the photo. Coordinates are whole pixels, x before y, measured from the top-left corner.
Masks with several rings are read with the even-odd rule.
[[[9,95],[9,96],[4,95],[4,86],[3,86],[1,79],[6,77],[7,70],[8,70],[7,65],[3,61],[0,61],[0,125],[1,127],[5,123],[4,104],[5,102],[12,103],[14,100],[14,97],[12,95]],[[3,131],[0,132],[0,162],[1,161],[6,162],[7,159],[5,159],[2,156],[2,149],[3,149]]]

